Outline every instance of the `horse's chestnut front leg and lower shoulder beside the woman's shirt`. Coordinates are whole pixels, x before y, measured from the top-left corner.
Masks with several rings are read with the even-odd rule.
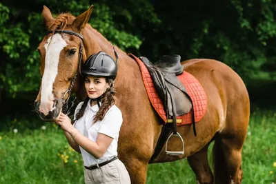
[[[148,162],[162,128],[150,103],[143,107],[132,112],[131,116],[125,116],[126,123],[121,127],[118,142],[118,156],[126,166],[132,184],[146,184]]]

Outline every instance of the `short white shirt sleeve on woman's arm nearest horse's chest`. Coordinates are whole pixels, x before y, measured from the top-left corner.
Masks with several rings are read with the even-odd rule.
[[[121,110],[119,108],[114,107],[110,108],[103,120],[101,121],[101,126],[99,127],[98,133],[106,134],[107,136],[119,137],[119,132],[121,128],[121,124],[123,123],[123,117],[121,114]]]

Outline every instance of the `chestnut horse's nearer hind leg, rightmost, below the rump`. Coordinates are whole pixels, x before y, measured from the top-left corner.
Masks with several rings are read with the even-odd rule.
[[[242,147],[249,121],[247,115],[232,116],[226,127],[215,136],[213,156],[216,184],[242,183]]]

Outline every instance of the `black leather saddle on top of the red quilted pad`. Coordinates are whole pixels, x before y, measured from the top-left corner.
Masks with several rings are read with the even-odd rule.
[[[168,116],[181,116],[190,111],[192,102],[184,85],[177,79],[177,75],[184,71],[179,55],[166,55],[156,63],[151,63],[146,57],[139,57],[146,65],[155,89],[164,103]]]

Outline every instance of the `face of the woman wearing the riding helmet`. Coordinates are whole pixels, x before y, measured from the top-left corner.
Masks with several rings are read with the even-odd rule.
[[[106,78],[99,76],[86,76],[84,84],[90,99],[96,99],[101,96],[101,94],[106,92],[106,88],[108,88]]]

